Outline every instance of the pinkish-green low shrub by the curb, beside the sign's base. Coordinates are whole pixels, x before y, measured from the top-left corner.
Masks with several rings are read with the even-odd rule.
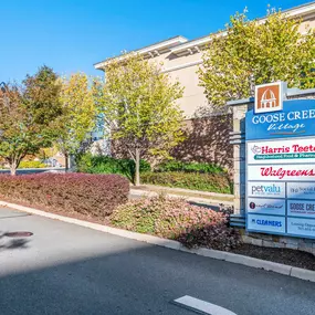
[[[237,230],[223,213],[164,196],[133,200],[111,216],[114,225],[180,241],[187,248],[230,250],[240,244]]]

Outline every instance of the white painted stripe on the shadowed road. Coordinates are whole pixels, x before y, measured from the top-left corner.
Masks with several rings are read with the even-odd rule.
[[[216,304],[208,303],[206,301],[195,298],[189,295],[185,295],[174,301],[177,304],[185,305],[191,309],[196,309],[198,312],[203,312],[204,314],[211,315],[237,315],[235,313],[218,306]]]

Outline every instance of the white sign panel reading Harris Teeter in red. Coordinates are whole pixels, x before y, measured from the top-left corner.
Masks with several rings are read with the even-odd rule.
[[[315,162],[315,139],[281,139],[248,143],[248,164]]]

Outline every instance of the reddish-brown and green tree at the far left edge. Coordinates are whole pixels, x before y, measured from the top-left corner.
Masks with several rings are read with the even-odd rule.
[[[49,147],[56,136],[55,119],[62,114],[60,84],[52,69],[42,66],[22,85],[7,84],[0,92],[0,157],[11,175],[27,155]]]

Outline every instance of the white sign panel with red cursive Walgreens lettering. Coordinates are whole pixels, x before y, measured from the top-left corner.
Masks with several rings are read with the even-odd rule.
[[[315,165],[248,166],[248,180],[314,181]]]

